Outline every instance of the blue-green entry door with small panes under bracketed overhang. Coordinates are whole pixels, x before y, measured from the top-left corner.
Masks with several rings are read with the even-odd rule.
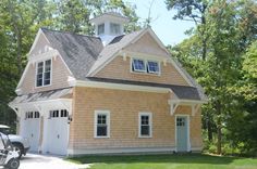
[[[188,120],[185,116],[176,117],[176,151],[187,152]]]

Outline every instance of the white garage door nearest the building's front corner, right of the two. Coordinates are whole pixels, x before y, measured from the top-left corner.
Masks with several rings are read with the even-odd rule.
[[[68,110],[50,110],[47,119],[47,153],[66,155],[69,143]]]

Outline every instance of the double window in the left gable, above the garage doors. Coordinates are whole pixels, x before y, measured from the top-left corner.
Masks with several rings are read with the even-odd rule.
[[[39,62],[37,64],[37,87],[48,86],[51,83],[51,60]]]

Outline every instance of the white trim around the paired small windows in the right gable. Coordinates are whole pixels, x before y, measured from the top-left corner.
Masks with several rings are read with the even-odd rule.
[[[133,60],[143,60],[144,61],[144,64],[145,64],[145,70],[133,70],[132,66],[133,66]],[[148,73],[147,72],[147,68],[148,68],[148,61],[150,62],[157,62],[158,65],[159,65],[159,73],[158,74],[155,74],[155,73]],[[157,61],[157,60],[147,60],[147,58],[142,58],[142,57],[131,57],[131,73],[132,74],[138,74],[138,75],[149,75],[149,76],[160,76],[161,75],[161,64],[160,64],[160,61]]]

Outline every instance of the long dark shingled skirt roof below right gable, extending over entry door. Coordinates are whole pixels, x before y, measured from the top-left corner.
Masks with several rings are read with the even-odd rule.
[[[175,95],[181,100],[203,100],[201,94],[198,92],[197,88],[188,86],[176,86],[176,84],[166,84],[166,83],[155,83],[145,81],[132,81],[122,79],[109,79],[109,78],[98,78],[98,77],[87,77],[89,81],[99,82],[110,82],[110,83],[124,83],[132,86],[144,86],[144,87],[158,87],[171,89]]]

